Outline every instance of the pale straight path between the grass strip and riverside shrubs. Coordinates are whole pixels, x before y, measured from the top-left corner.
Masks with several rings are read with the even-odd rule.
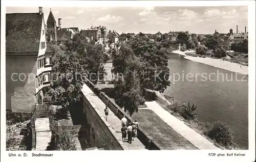
[[[181,134],[200,150],[217,150],[219,147],[204,138],[200,133],[187,126],[175,116],[167,112],[156,101],[145,102],[147,109],[154,111],[164,122]]]

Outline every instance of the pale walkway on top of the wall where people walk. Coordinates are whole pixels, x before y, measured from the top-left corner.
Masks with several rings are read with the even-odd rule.
[[[98,111],[97,113],[101,117],[101,119],[105,122],[105,124],[108,125],[112,133],[114,134],[115,138],[118,140],[118,142],[121,144],[124,150],[145,150],[145,146],[137,139],[135,138],[134,141],[132,141],[132,144],[123,142],[122,141],[122,133],[121,133],[121,121],[117,116],[114,115],[114,113],[109,109],[109,116],[108,121],[105,119],[105,104],[101,99],[96,96],[92,90],[86,85],[83,85],[82,93],[90,98],[90,100],[93,102],[93,104],[97,107]],[[127,138],[126,138],[127,140]]]

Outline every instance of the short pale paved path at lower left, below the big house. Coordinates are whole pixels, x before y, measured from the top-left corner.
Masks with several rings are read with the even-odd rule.
[[[36,131],[36,151],[46,150],[48,143],[51,141],[52,133],[50,131],[49,118],[37,118],[35,120]]]

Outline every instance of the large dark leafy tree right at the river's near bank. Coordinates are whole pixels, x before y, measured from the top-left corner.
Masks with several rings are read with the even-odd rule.
[[[168,57],[157,42],[146,37],[136,37],[127,41],[142,64],[140,71],[141,91],[156,90],[162,93],[170,85]]]

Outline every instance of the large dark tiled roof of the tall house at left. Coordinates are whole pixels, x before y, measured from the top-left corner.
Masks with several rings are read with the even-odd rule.
[[[43,13],[6,14],[6,53],[37,53],[43,17]]]

